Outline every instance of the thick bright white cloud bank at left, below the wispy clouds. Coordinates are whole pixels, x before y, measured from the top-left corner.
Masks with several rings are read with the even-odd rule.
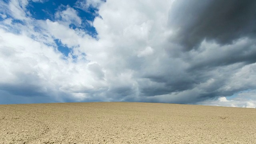
[[[60,92],[74,96],[77,100],[81,93],[96,92],[105,88],[104,80],[98,75],[92,77],[88,63],[66,62],[60,52],[51,46],[36,42],[25,35],[14,35],[0,30],[1,35],[1,77],[0,84],[31,84],[41,87],[40,92],[49,93],[53,98]],[[16,42],[13,43],[12,40]],[[10,67],[11,66],[11,67]]]

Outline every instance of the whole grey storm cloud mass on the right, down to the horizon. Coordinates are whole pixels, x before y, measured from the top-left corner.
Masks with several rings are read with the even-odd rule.
[[[161,58],[161,67],[141,76],[148,82],[140,92],[150,96],[142,101],[196,103],[252,88],[236,73],[256,62],[256,1],[175,1],[168,22],[170,60]]]

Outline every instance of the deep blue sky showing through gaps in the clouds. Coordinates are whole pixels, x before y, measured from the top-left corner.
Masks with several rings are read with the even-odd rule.
[[[45,0],[43,2],[31,2],[26,7],[27,10],[31,14],[31,18],[36,20],[46,20],[49,19],[51,21],[62,20],[62,17],[56,18],[54,14],[60,10],[65,10],[67,7],[74,8],[76,10],[77,15],[82,19],[82,24],[80,26],[76,24],[69,24],[69,28],[76,29],[79,28],[81,30],[86,31],[90,36],[95,37],[97,32],[93,26],[90,26],[86,20],[92,21],[95,16],[97,16],[97,8],[89,6],[86,10],[81,9],[77,0]],[[62,44],[61,40],[54,40],[58,46],[58,50],[64,54],[64,56],[68,56],[71,48]]]

